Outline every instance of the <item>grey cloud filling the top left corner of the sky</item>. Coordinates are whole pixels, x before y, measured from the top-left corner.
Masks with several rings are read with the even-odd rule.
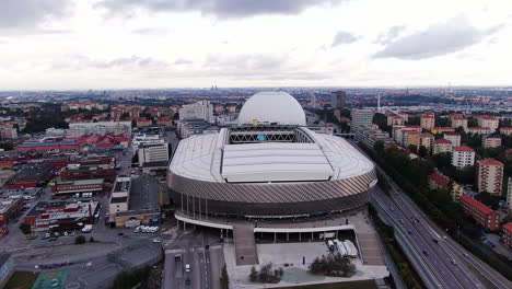
[[[65,16],[71,5],[71,1],[67,0],[2,0],[0,27],[37,27],[45,21]]]

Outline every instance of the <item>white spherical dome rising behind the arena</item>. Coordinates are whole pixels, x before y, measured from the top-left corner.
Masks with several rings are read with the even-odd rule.
[[[282,91],[264,91],[251,96],[240,111],[238,125],[277,123],[305,126],[305,114],[299,102]]]

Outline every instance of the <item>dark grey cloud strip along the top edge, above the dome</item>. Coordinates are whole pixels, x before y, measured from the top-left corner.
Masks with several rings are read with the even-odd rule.
[[[142,8],[152,12],[199,11],[220,18],[244,18],[260,14],[299,14],[310,7],[336,5],[347,0],[103,0],[96,7],[109,12],[129,12]]]

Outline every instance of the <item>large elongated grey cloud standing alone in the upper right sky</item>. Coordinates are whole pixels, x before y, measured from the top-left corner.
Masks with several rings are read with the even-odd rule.
[[[478,30],[472,26],[464,16],[458,16],[394,41],[374,57],[423,59],[447,55],[478,44],[502,27],[503,25],[497,25],[487,30]]]

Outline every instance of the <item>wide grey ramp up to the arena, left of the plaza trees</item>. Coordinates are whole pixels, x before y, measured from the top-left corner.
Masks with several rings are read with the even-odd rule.
[[[252,224],[233,226],[236,265],[258,264],[254,227]]]

